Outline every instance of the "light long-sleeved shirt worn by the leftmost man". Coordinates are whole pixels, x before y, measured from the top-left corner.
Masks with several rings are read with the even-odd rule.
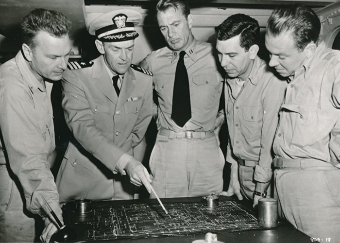
[[[0,127],[8,165],[18,177],[27,208],[38,213],[40,194],[62,219],[48,158],[55,148],[51,100],[45,83],[31,72],[21,52],[0,67]],[[0,164],[4,165],[3,151]]]

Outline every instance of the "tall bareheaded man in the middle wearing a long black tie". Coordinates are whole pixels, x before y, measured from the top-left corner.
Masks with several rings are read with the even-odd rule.
[[[152,185],[159,197],[220,193],[224,157],[214,129],[224,120],[223,112],[217,118],[223,78],[214,48],[192,35],[187,1],[160,0],[156,8],[168,46],[141,64],[153,72],[159,103],[154,110],[159,131],[150,158]]]

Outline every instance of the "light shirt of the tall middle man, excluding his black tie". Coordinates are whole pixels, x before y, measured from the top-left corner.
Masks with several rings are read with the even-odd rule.
[[[196,39],[185,50],[184,63],[190,86],[191,119],[184,127],[171,119],[172,93],[179,52],[164,47],[149,54],[140,64],[153,72],[153,86],[158,95],[160,129],[172,131],[209,131],[219,108],[223,78],[218,71],[213,47]]]

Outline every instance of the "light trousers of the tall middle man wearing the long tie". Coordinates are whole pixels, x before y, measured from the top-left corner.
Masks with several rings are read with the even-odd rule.
[[[218,194],[223,167],[215,136],[186,139],[158,134],[150,157],[151,184],[161,198]]]

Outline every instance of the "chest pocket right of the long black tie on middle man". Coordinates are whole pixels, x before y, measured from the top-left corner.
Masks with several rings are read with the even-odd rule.
[[[190,78],[191,105],[199,109],[213,109],[220,101],[221,92],[218,91],[222,82],[214,73],[199,74]]]

